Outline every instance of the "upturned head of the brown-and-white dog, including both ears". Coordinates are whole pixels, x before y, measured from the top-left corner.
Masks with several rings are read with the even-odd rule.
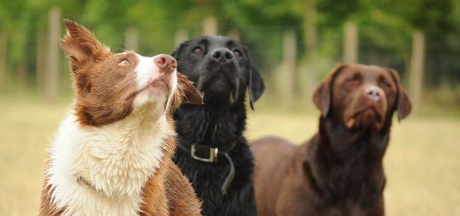
[[[65,25],[61,46],[70,59],[74,112],[81,125],[114,123],[147,104],[153,105],[152,112],[166,113],[183,100],[202,103],[200,92],[176,71],[170,55],[114,54],[83,26],[69,20]]]

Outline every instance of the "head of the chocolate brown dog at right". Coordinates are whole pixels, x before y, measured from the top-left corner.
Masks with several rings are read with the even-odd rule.
[[[323,118],[340,120],[349,129],[380,130],[395,110],[402,120],[412,108],[393,69],[362,64],[335,67],[313,100]]]

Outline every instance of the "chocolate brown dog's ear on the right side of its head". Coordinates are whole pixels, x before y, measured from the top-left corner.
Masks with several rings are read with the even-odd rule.
[[[396,96],[396,110],[398,110],[398,121],[401,121],[403,118],[406,118],[410,114],[410,111],[412,110],[412,103],[410,103],[409,96],[401,85],[398,72],[396,72],[394,69],[389,69],[389,72],[398,88],[398,94]]]

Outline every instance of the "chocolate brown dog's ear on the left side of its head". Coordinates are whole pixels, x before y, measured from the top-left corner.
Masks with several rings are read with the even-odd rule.
[[[347,67],[346,64],[340,64],[337,67],[333,68],[330,71],[330,74],[323,82],[316,88],[315,93],[313,94],[313,103],[316,108],[321,111],[321,115],[326,117],[330,110],[330,100],[332,98],[332,85],[335,79],[335,76]]]

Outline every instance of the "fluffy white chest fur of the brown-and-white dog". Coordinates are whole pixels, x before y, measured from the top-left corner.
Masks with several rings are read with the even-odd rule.
[[[165,115],[142,113],[151,110],[103,127],[81,128],[74,115],[64,120],[47,170],[54,205],[65,208],[64,215],[139,214],[142,187],[160,166],[164,141],[174,135]]]

